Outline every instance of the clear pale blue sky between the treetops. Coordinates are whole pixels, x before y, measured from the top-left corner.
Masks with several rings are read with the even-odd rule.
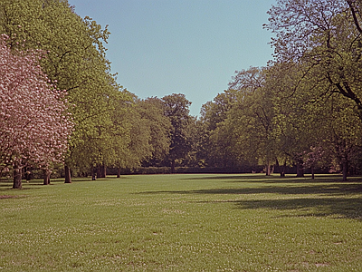
[[[224,92],[236,70],[265,66],[275,0],[69,0],[109,24],[107,57],[118,82],[140,98],[185,93],[192,115]]]

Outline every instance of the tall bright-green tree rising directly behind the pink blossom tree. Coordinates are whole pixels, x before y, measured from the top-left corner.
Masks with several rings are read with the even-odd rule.
[[[90,147],[88,143],[95,143],[90,141],[95,131],[110,123],[110,97],[121,92],[106,59],[107,26],[102,29],[89,17],[81,19],[66,0],[3,0],[0,32],[9,35],[12,49],[48,52],[41,62],[43,71],[68,92],[74,105],[68,111],[75,123],[65,159],[65,180],[71,182],[71,167],[91,167],[90,160],[83,159],[94,157],[97,145]],[[123,95],[124,101],[129,100],[127,96]]]

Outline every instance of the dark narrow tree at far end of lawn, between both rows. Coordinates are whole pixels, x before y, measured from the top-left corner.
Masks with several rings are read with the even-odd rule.
[[[162,98],[164,102],[165,116],[172,125],[170,151],[167,160],[171,164],[171,172],[175,172],[176,160],[183,160],[190,150],[190,135],[187,127],[190,124],[191,105],[185,94],[173,93]]]

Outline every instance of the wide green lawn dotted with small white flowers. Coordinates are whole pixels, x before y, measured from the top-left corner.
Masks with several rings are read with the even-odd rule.
[[[0,271],[362,271],[362,180],[0,182]]]

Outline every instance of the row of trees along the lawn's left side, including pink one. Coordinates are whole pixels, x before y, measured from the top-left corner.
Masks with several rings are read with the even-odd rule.
[[[48,184],[62,164],[71,182],[71,168],[101,177],[106,165],[165,159],[172,96],[141,101],[116,83],[107,26],[66,0],[1,0],[0,34],[0,171],[14,172],[14,188],[32,168]]]

